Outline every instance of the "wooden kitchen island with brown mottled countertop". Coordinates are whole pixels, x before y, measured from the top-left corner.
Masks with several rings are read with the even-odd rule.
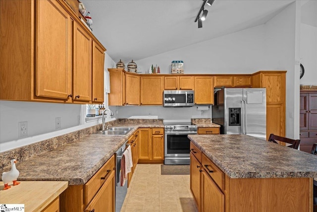
[[[316,155],[246,135],[188,138],[191,190],[201,211],[313,211]]]

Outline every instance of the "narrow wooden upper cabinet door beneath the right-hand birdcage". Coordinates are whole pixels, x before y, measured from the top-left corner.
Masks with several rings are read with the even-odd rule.
[[[125,74],[125,104],[140,105],[140,76]]]

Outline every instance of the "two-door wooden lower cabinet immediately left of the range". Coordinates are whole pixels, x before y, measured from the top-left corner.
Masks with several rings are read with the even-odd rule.
[[[139,163],[163,163],[164,129],[139,129]]]

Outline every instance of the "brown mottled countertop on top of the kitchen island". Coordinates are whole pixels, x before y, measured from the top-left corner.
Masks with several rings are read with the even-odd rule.
[[[247,135],[188,135],[230,178],[317,177],[317,156]]]

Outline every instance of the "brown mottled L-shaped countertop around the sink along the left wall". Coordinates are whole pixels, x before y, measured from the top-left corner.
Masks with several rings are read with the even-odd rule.
[[[124,136],[88,135],[16,164],[19,181],[68,181],[83,185],[106,163],[138,128],[163,128],[162,123],[123,123],[112,127],[132,127]],[[2,171],[9,171],[5,167]]]

